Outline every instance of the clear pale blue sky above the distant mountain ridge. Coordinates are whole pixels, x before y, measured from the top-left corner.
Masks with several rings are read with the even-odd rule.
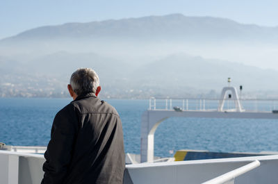
[[[0,39],[38,26],[182,13],[278,26],[277,0],[0,0]]]

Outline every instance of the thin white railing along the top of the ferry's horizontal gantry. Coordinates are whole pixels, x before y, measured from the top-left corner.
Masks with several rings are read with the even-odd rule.
[[[149,99],[149,110],[217,111],[220,99]],[[240,99],[246,112],[272,112],[278,110],[278,99]],[[223,111],[235,111],[234,99],[225,99]]]

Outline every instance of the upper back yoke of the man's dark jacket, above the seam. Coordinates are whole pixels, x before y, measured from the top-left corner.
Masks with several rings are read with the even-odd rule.
[[[97,113],[97,114],[113,114],[119,116],[117,110],[106,101],[99,98],[85,98],[78,101],[72,101],[70,104],[78,109],[82,114]],[[70,105],[69,104],[69,105]],[[69,106],[68,105],[68,106]]]

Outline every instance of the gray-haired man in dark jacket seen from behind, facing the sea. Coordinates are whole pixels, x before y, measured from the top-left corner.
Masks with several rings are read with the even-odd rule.
[[[99,77],[77,69],[67,89],[74,101],[54,118],[42,184],[122,184],[122,122],[115,108],[97,98]]]

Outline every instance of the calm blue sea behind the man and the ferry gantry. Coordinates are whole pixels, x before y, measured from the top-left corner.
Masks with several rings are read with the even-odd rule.
[[[0,98],[0,142],[10,145],[47,146],[56,112],[71,99]],[[147,100],[106,100],[122,119],[125,151],[140,153],[140,119]],[[156,156],[170,150],[278,151],[278,120],[205,119],[173,117],[158,126]]]

